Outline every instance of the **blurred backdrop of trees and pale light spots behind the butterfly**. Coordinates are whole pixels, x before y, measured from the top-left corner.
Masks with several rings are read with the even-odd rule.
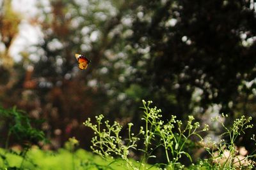
[[[83,122],[100,113],[139,127],[142,99],[164,118],[255,122],[255,8],[253,0],[1,0],[0,104],[44,119],[53,150],[72,136],[88,149]],[[88,69],[75,53],[92,60]],[[218,140],[211,126],[205,136]],[[237,145],[255,147],[253,132]]]

